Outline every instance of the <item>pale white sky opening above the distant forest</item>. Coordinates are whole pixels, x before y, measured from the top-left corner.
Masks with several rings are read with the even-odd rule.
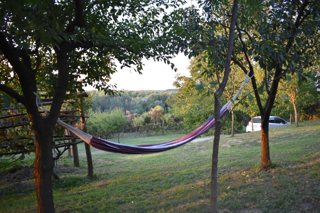
[[[117,66],[117,72],[111,75],[109,83],[116,83],[118,91],[120,90],[166,90],[175,89],[172,83],[175,81],[175,75],[180,73],[181,75],[190,76],[188,56],[183,53],[179,53],[175,58],[171,59],[171,62],[178,69],[177,72],[171,69],[171,66],[165,64],[163,61],[154,61],[143,59],[142,75],[135,72],[133,69],[124,67],[120,69],[120,65]],[[130,72],[131,70],[131,72]],[[84,87],[84,90],[94,90],[93,87]]]

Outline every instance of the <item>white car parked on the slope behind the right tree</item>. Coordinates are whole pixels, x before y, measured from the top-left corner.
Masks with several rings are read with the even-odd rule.
[[[252,119],[252,123],[251,123],[251,121],[248,123],[245,131],[252,132],[252,125],[253,125],[254,132],[261,131],[261,117],[260,116],[254,117]],[[286,125],[290,125],[290,123],[286,122],[282,118],[279,118],[276,116],[270,116],[270,118],[269,118],[269,128],[278,127],[278,126],[286,126]]]

